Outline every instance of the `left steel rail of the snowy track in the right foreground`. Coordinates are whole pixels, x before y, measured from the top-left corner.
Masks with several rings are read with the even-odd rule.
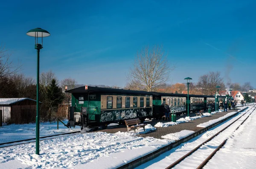
[[[251,107],[252,109],[253,107]],[[251,110],[250,109],[250,110]],[[255,108],[254,108],[255,110]],[[248,110],[249,111],[249,110]],[[247,113],[247,112],[246,112]],[[243,115],[245,115],[246,113],[244,113]],[[175,161],[174,163],[172,163],[170,166],[166,167],[166,169],[171,169],[172,167],[176,166],[178,163],[180,163],[181,161],[183,161],[185,158],[187,158],[189,155],[191,155],[193,152],[195,152],[196,150],[198,150],[202,145],[206,144],[207,142],[209,142],[210,140],[212,140],[212,138],[214,138],[216,135],[220,134],[221,132],[223,132],[224,130],[226,130],[228,127],[230,127],[233,123],[235,123],[237,120],[239,120],[243,115],[241,115],[239,118],[237,118],[235,121],[233,121],[231,124],[229,124],[227,127],[225,127],[224,129],[220,130],[219,132],[217,132],[215,135],[213,135],[212,137],[210,137],[209,139],[207,139],[206,141],[204,141],[202,144],[200,144],[199,146],[195,147],[194,149],[192,149],[190,152],[188,152],[186,155],[183,155],[183,157],[181,157],[180,159],[178,159],[177,161]]]

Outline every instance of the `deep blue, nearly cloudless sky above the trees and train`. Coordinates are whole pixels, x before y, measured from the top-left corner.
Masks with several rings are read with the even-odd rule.
[[[0,44],[36,77],[36,50],[26,32],[43,28],[40,71],[79,84],[125,86],[145,45],[163,45],[175,65],[169,83],[209,71],[256,87],[255,0],[13,0],[1,3]],[[38,1],[39,2],[39,1]]]

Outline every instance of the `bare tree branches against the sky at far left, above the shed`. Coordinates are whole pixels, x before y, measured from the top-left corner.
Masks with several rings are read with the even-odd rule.
[[[0,46],[0,78],[11,76],[21,69],[21,65],[13,66],[10,56],[11,54],[8,54],[5,48]]]

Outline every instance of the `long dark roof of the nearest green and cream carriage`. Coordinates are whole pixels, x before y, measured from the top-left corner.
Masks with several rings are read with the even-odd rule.
[[[139,95],[152,95],[146,91],[140,90],[124,90],[124,89],[113,89],[105,87],[92,87],[88,86],[88,89],[85,90],[85,87],[77,87],[71,90],[65,91],[65,93],[118,93],[118,94],[139,94]]]

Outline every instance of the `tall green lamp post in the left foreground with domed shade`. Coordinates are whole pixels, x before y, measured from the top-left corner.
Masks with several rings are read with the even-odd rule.
[[[37,50],[37,73],[36,73],[36,125],[35,125],[35,153],[39,155],[39,123],[40,123],[40,112],[39,112],[39,53],[40,49],[43,48],[43,37],[49,37],[50,33],[41,28],[31,29],[26,33],[30,37],[35,37],[35,49]],[[38,43],[38,37],[42,39],[42,44]]]

